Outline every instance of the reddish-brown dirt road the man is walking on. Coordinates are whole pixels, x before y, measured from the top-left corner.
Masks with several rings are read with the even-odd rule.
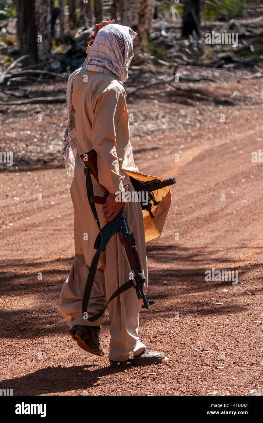
[[[226,89],[243,89],[249,99],[262,88],[257,80]],[[141,340],[165,360],[112,369],[108,357],[86,354],[66,334],[58,297],[74,255],[72,176],[59,166],[29,166],[0,173],[1,389],[69,396],[263,390],[263,164],[252,162],[252,152],[263,151],[262,105],[189,107],[166,100],[129,105],[138,116],[131,139],[139,170],[177,181],[162,236],[147,244],[147,297],[156,303],[140,313]],[[155,119],[161,113],[168,119],[161,133],[144,134],[146,107]],[[25,129],[31,127],[28,117]],[[1,131],[10,132],[8,122]],[[238,283],[206,280],[213,268],[234,271]],[[108,319],[102,341],[108,352]]]

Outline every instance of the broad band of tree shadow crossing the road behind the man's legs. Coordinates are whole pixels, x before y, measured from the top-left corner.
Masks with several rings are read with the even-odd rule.
[[[174,250],[174,253],[171,252],[171,249]],[[234,249],[237,248],[233,247]],[[205,272],[206,270],[211,271],[211,266],[208,266],[204,261],[207,261],[208,256],[216,254],[219,250],[205,250],[198,254],[194,254],[193,251],[194,248],[154,245],[148,249],[148,257],[154,255],[155,269],[149,266],[147,297],[154,299],[155,305],[151,306],[147,312],[142,311],[140,314],[140,318],[144,319],[147,324],[158,318],[170,316],[171,313],[174,313],[174,310],[179,311],[180,315],[191,315],[193,310],[194,313],[199,315],[240,313],[244,310],[245,305],[227,302],[218,306],[213,305],[213,301],[203,301],[200,297],[191,297],[189,303],[187,294],[204,294],[211,289],[214,291],[218,288],[232,289],[231,281],[208,282],[205,280]],[[175,257],[172,264],[174,268],[171,268],[170,254],[174,254]],[[59,260],[60,267],[62,263],[63,267],[67,267],[66,270],[55,268],[58,266],[56,259],[24,264],[14,260],[5,264],[5,268],[8,267],[9,269],[19,266],[20,271],[12,276],[7,273],[3,274],[2,278],[2,294],[12,293],[17,297],[17,305],[14,310],[3,310],[1,312],[3,329],[6,329],[2,335],[4,338],[15,339],[19,335],[22,339],[34,339],[43,335],[57,335],[66,330],[66,322],[59,314],[58,298],[63,283],[69,275],[72,260],[73,257]],[[189,261],[188,268],[180,269],[182,261]],[[225,260],[222,257],[209,260],[210,263],[215,263],[215,268],[216,264],[230,261],[231,259]],[[158,264],[161,264],[160,268],[158,268]],[[47,266],[48,269],[45,269]],[[26,273],[28,267],[34,268],[30,275]],[[218,266],[218,269],[228,270],[227,266],[223,268]],[[231,270],[238,270],[242,277],[246,277],[247,272],[254,272],[256,269],[261,269],[261,265],[251,264],[243,267],[231,267]],[[38,272],[42,272],[43,280],[37,279]],[[250,290],[250,292],[255,295],[259,290]],[[36,300],[32,302],[28,294],[34,294]],[[51,301],[50,294],[52,294]],[[244,290],[242,292],[237,290],[235,293],[236,297],[246,295]],[[21,304],[21,307],[19,307],[19,304]],[[156,311],[152,311],[155,309]]]

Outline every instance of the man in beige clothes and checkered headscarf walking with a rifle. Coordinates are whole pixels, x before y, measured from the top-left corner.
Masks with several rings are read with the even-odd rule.
[[[125,170],[138,172],[134,164],[129,140],[126,93],[123,82],[133,58],[133,38],[136,33],[129,27],[102,22],[96,25],[93,45],[80,69],[70,75],[67,87],[69,127],[64,142],[64,156],[68,170],[75,170],[71,197],[75,214],[75,258],[69,277],[60,296],[61,314],[69,322],[69,334],[85,351],[103,356],[100,329],[105,314],[95,322],[84,319],[81,313],[83,291],[94,256],[94,242],[98,227],[91,212],[87,195],[81,154],[94,149],[97,152],[98,176],[109,192],[103,206],[96,205],[101,227],[114,220],[121,207],[125,208],[127,222],[137,242],[147,285],[147,257],[144,221],[138,202],[117,202],[119,192],[133,192]],[[99,29],[99,30],[98,30]],[[91,44],[90,43],[90,44]],[[94,195],[102,196],[99,184],[93,178]],[[130,268],[118,234],[107,244],[100,261],[91,291],[88,314],[95,316],[107,303],[114,291],[129,280]],[[146,289],[146,286],[145,286]],[[138,313],[142,301],[134,289],[129,289],[108,305],[111,321],[109,360],[112,366],[120,364],[144,365],[159,363],[162,352],[150,352],[138,338]]]

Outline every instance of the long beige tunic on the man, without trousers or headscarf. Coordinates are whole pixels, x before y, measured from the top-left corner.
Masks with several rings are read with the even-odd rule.
[[[87,82],[83,78],[87,77]],[[94,148],[97,152],[100,183],[111,193],[130,183],[122,167],[136,168],[129,140],[128,112],[122,84],[109,74],[81,72],[73,80],[72,104],[78,140],[71,196],[75,211],[75,254],[83,254],[90,266],[98,228],[86,195],[86,178],[79,155]],[[112,113],[114,110],[114,115]],[[102,195],[93,179],[94,195]],[[97,210],[101,205],[96,205]],[[85,233],[88,236],[85,239]]]

